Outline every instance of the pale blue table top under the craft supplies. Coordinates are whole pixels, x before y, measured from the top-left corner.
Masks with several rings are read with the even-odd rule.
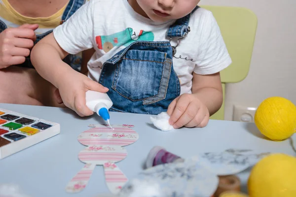
[[[109,193],[102,166],[96,166],[82,192],[65,192],[68,182],[84,166],[77,156],[85,146],[77,141],[77,136],[87,130],[89,124],[104,123],[100,117],[94,114],[81,118],[70,109],[54,107],[0,104],[0,108],[61,125],[59,135],[0,160],[0,184],[16,184],[30,197],[94,197]],[[134,125],[133,130],[140,136],[137,142],[125,147],[127,158],[117,163],[129,179],[143,170],[148,152],[155,145],[184,158],[229,148],[295,155],[289,140],[274,142],[265,139],[254,123],[210,120],[202,129],[182,128],[164,132],[151,125],[148,115],[111,112],[111,124]],[[293,139],[296,141],[296,136]],[[245,186],[249,170],[238,175]],[[242,190],[246,192],[244,186]]]

